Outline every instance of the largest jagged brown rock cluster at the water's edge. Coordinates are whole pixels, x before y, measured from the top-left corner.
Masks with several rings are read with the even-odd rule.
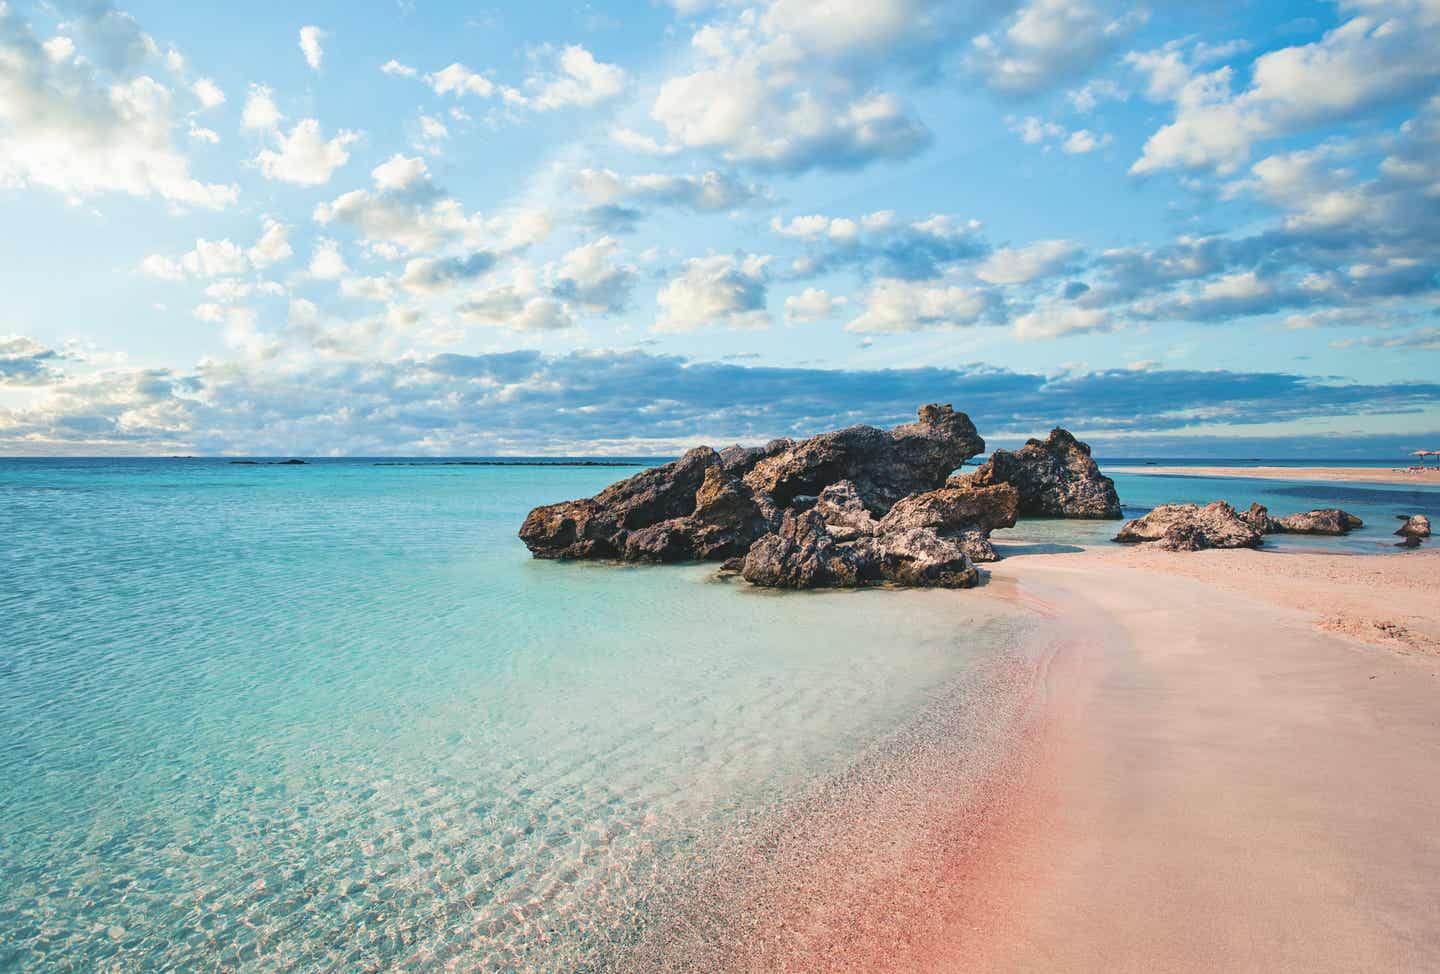
[[[989,532],[1015,523],[1017,493],[946,487],[985,450],[962,412],[851,426],[765,447],[697,447],[595,497],[537,507],[520,537],[536,558],[743,559],[759,585],[894,581],[973,585]]]

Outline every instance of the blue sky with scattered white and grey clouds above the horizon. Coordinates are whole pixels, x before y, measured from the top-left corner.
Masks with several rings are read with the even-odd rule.
[[[0,454],[1440,450],[1440,0],[0,0]]]

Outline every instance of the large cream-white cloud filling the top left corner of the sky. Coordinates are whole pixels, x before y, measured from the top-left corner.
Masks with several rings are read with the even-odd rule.
[[[13,6],[0,4],[0,184],[39,186],[72,199],[104,193],[222,209],[230,184],[190,174],[176,146],[170,88],[141,71],[154,53],[128,14],[88,9],[75,43],[46,48]],[[148,42],[148,43],[147,43]]]

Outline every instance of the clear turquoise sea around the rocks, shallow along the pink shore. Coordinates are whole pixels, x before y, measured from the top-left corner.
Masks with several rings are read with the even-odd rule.
[[[533,506],[649,461],[608,463],[0,458],[0,970],[625,970],[743,909],[720,888],[786,823],[851,827],[815,808],[857,768],[998,723],[1037,620],[992,588],[533,560]],[[1116,481],[1130,516],[1367,522],[1273,539],[1296,550],[1391,552],[1395,514],[1440,513],[1404,486]]]

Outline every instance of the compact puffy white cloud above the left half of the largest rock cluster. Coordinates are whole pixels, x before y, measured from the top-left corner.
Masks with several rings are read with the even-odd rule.
[[[708,324],[732,329],[765,329],[770,316],[765,310],[766,264],[769,258],[750,255],[697,256],[685,261],[678,277],[657,295],[660,317],[655,331],[696,331]]]

